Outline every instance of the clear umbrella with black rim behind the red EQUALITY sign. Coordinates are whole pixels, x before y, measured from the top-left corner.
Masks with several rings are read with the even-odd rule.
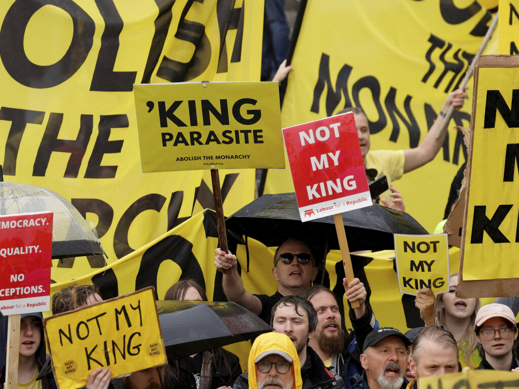
[[[79,211],[56,192],[0,182],[0,215],[53,212],[52,258],[104,254],[99,239]]]

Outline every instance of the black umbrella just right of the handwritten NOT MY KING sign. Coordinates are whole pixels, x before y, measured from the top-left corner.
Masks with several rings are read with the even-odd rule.
[[[262,319],[231,302],[157,301],[157,311],[170,362],[272,331]]]

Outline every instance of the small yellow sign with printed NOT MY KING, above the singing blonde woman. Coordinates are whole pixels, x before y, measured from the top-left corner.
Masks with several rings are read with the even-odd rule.
[[[434,294],[449,290],[447,234],[394,234],[400,292],[416,295],[422,288]]]

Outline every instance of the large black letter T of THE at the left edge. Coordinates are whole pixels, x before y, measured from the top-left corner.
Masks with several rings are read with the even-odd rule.
[[[45,112],[20,110],[3,106],[0,109],[0,120],[11,122],[11,128],[5,144],[3,173],[9,176],[16,175],[16,159],[20,150],[20,142],[28,123],[42,124]]]

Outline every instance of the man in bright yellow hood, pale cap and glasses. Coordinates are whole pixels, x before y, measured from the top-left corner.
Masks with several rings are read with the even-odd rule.
[[[238,377],[234,389],[302,389],[301,364],[294,343],[279,332],[256,338],[249,354],[248,372]]]

